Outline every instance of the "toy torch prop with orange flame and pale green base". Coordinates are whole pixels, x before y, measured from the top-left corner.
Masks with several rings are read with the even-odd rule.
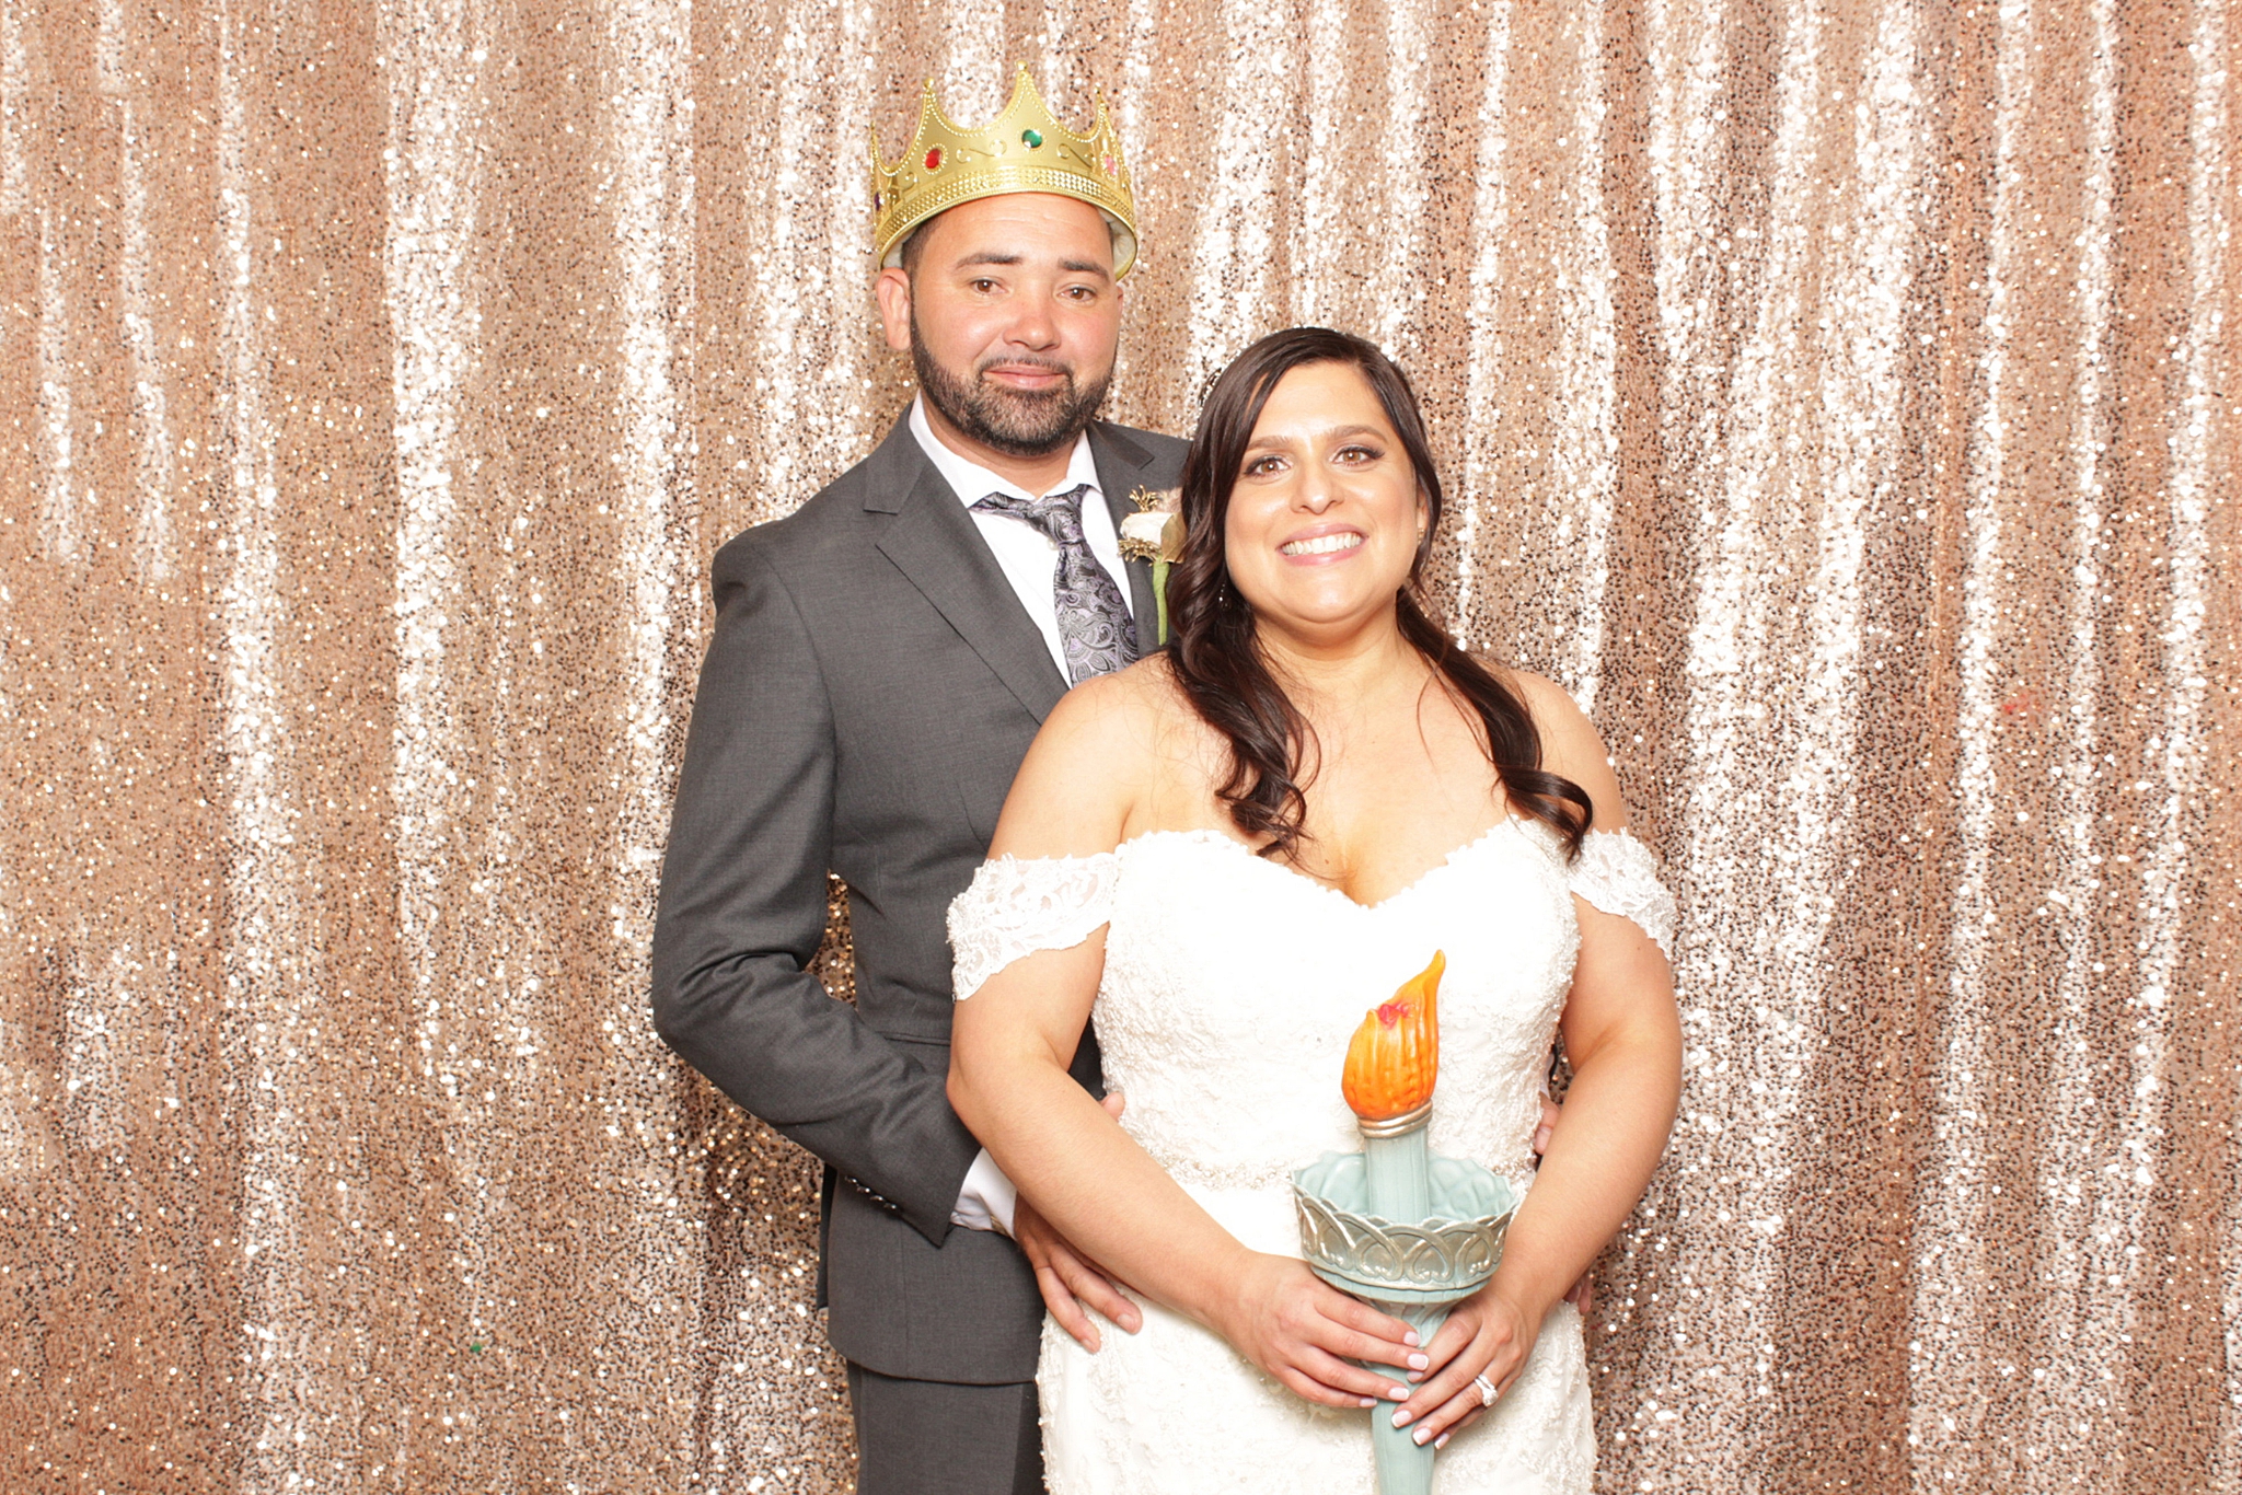
[[[1294,1172],[1300,1255],[1332,1287],[1417,1329],[1430,1345],[1448,1309],[1495,1275],[1516,1197],[1477,1163],[1439,1157],[1426,1127],[1439,1083],[1439,977],[1433,962],[1363,1015],[1347,1044],[1341,1094],[1361,1152],[1325,1152]],[[1390,1367],[1406,1381],[1403,1367]],[[1370,1412],[1381,1495],[1430,1495],[1433,1446]]]

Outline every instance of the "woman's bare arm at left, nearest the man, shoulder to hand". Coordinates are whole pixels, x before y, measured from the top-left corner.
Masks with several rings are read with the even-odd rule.
[[[1159,751],[1146,675],[1103,677],[1060,699],[1020,764],[991,856],[1090,856],[1123,841]],[[1067,1078],[1103,966],[1099,930],[1004,966],[957,1004],[948,1092],[966,1127],[1069,1242],[1300,1396],[1359,1408],[1406,1392],[1347,1361],[1426,1363],[1408,1325],[1291,1257],[1247,1251]]]

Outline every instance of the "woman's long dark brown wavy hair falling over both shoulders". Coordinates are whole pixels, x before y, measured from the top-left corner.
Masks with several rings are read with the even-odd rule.
[[[1327,327],[1271,332],[1222,370],[1199,410],[1199,430],[1184,459],[1184,554],[1168,572],[1168,666],[1193,708],[1231,740],[1231,773],[1215,789],[1231,820],[1247,836],[1267,838],[1262,856],[1296,856],[1307,816],[1307,773],[1314,728],[1291,704],[1253,630],[1253,605],[1231,583],[1222,549],[1253,426],[1278,381],[1309,363],[1356,370],[1386,408],[1401,448],[1417,473],[1430,522],[1417,542],[1408,585],[1397,598],[1401,637],[1464,697],[1486,731],[1486,755],[1511,807],[1558,834],[1565,856],[1578,856],[1594,807],[1569,778],[1540,767],[1540,731],[1516,690],[1455,646],[1424,596],[1424,563],[1439,529],[1439,473],[1417,410],[1417,392],[1374,343]]]

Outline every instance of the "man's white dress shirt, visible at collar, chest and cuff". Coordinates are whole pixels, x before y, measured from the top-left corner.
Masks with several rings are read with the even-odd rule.
[[[935,435],[933,424],[926,419],[926,397],[910,401],[910,435],[917,437],[919,451],[926,459],[935,464],[942,480],[951,484],[957,502],[973,513],[973,524],[980,529],[982,540],[995,554],[995,563],[1004,569],[1004,581],[1011,589],[1020,594],[1020,605],[1027,607],[1027,616],[1034,619],[1036,628],[1043,630],[1043,641],[1051,650],[1051,663],[1058,666],[1058,677],[1067,679],[1067,650],[1058,641],[1058,601],[1054,589],[1058,583],[1058,545],[1045,536],[1034,524],[1016,520],[1004,513],[975,511],[973,504],[989,498],[991,493],[1007,493],[1011,498],[1036,500],[1043,493],[1029,493],[1020,484],[998,477],[971,457],[960,457],[942,437]],[[1099,486],[1099,468],[1090,455],[1090,433],[1074,437],[1074,455],[1067,459],[1067,475],[1058,480],[1051,493],[1065,493],[1076,484],[1090,484],[1083,493],[1083,540],[1090,542],[1090,554],[1096,556],[1105,574],[1114,578],[1114,587],[1121,589],[1121,605],[1132,607],[1128,594],[1128,572],[1121,565],[1121,536],[1114,533],[1114,516],[1105,509],[1105,491]],[[964,1188],[957,1190],[957,1208],[951,1210],[951,1224],[964,1226],[969,1231],[1002,1231],[1011,1235],[1011,1217],[1018,1204],[1018,1190],[1013,1190],[1011,1179],[1004,1170],[995,1166],[989,1150],[982,1148],[973,1166],[966,1168]]]

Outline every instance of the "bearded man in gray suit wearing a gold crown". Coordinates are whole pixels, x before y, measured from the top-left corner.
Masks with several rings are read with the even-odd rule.
[[[1043,1488],[1036,1269],[1078,1336],[1096,1329],[1076,1293],[1123,1327],[1137,1311],[1025,1204],[1011,1219],[948,1107],[944,914],[1058,697],[1157,643],[1150,572],[1117,529],[1130,493],[1177,484],[1184,444],[1094,419],[1137,251],[1103,108],[1076,134],[1022,67],[995,121],[955,130],[928,85],[910,152],[872,166],[881,325],[919,399],[865,462],[717,551],[652,1004],[695,1069],[825,1159],[859,1491],[1025,1493]],[[803,971],[827,870],[850,885],[854,1009]],[[1099,1085],[1087,1033],[1074,1076]]]

